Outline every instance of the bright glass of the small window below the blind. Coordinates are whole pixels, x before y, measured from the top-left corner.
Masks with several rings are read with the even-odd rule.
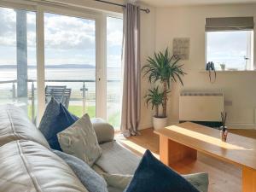
[[[251,70],[253,64],[251,31],[207,32],[207,62],[217,70]]]

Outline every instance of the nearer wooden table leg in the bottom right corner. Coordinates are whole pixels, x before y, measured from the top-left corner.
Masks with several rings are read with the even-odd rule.
[[[256,170],[242,167],[242,192],[256,192]]]

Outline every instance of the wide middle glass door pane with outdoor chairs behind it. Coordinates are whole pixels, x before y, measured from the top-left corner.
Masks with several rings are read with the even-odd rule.
[[[69,111],[79,117],[84,113],[95,117],[95,20],[46,13],[44,37],[45,81],[46,85],[55,86],[48,89],[58,91],[66,87],[67,96],[63,98]]]

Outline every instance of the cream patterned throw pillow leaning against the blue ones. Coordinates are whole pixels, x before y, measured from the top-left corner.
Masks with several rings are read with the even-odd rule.
[[[59,132],[57,137],[63,152],[84,160],[89,166],[102,154],[87,113],[66,130]]]

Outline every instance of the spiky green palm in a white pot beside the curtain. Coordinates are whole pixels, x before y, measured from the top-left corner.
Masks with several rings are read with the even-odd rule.
[[[153,92],[149,91],[149,94],[145,97],[146,102],[150,101],[152,104],[152,108],[157,107],[157,111],[159,110],[159,106],[161,105],[163,110],[162,113],[155,113],[153,117],[153,125],[154,129],[163,128],[167,125],[167,115],[166,115],[166,104],[167,104],[167,97],[168,92],[171,90],[172,82],[180,82],[183,85],[182,77],[186,74],[183,72],[183,65],[179,65],[178,61],[180,58],[178,55],[170,55],[168,48],[166,48],[165,53],[159,52],[154,53],[154,57],[148,56],[148,64],[143,67],[144,76],[148,75],[148,82],[151,84],[160,83],[162,88],[162,96],[161,102],[159,105],[153,106],[152,99],[149,95],[152,95]],[[155,89],[154,91],[161,94],[160,90]],[[160,96],[160,95],[159,95]]]

